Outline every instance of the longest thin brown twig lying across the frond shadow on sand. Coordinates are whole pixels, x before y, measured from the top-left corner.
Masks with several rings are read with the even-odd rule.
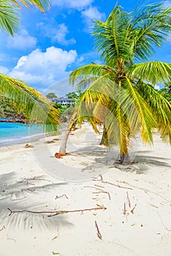
[[[58,215],[58,214],[68,214],[68,213],[79,212],[79,211],[106,210],[106,207],[100,206],[100,207],[95,207],[95,208],[86,208],[86,209],[72,210],[72,211],[28,211],[28,210],[12,211],[10,208],[7,208],[7,209],[10,211],[9,216],[11,214],[15,214],[15,213],[27,212],[27,213],[30,213],[30,214],[53,214],[53,215],[48,215],[47,216],[47,217],[53,217],[53,216]]]

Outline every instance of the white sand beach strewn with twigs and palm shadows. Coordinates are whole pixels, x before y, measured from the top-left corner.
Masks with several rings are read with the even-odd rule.
[[[62,159],[60,140],[0,148],[0,256],[171,255],[170,146],[155,134],[127,166],[100,138],[75,130]]]

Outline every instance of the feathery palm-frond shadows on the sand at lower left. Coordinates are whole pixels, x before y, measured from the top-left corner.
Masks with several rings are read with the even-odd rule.
[[[41,181],[41,184],[39,184]],[[44,185],[42,185],[45,183]],[[48,183],[48,184],[47,184]],[[10,230],[56,230],[59,227],[72,227],[64,215],[48,217],[48,214],[16,213],[9,216],[10,211],[58,211],[56,201],[43,199],[50,190],[64,186],[66,182],[52,183],[44,176],[24,178],[18,181],[15,172],[0,176],[0,228]],[[64,209],[65,210],[65,209]]]

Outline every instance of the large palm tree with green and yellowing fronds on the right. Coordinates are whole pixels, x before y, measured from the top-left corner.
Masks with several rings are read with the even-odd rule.
[[[133,13],[116,5],[106,21],[94,22],[95,48],[103,64],[88,64],[70,75],[72,85],[86,89],[80,100],[84,113],[94,106],[98,118],[99,110],[105,109],[107,146],[120,148],[121,162],[129,162],[138,132],[144,143],[152,144],[155,127],[171,143],[170,102],[154,89],[156,83],[171,80],[171,64],[148,61],[170,33],[170,15],[171,8],[162,3]]]

